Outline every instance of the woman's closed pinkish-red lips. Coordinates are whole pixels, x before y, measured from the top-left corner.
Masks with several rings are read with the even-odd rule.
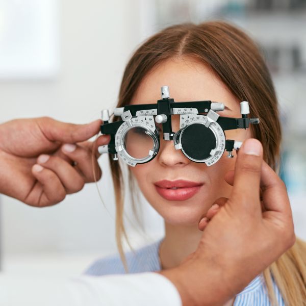
[[[203,183],[191,181],[159,181],[155,184],[157,192],[166,200],[183,201],[194,196],[201,188]]]

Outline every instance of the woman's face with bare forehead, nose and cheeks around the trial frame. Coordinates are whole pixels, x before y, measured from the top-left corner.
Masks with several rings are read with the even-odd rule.
[[[188,58],[170,59],[154,68],[141,82],[131,104],[157,103],[162,86],[169,86],[175,102],[212,100],[228,108],[219,112],[224,117],[241,117],[237,98],[205,64]],[[172,115],[172,131],[179,130],[180,115]],[[161,125],[157,124],[160,127]],[[161,129],[162,130],[162,129]],[[250,130],[225,131],[226,139],[243,141],[251,137]],[[228,170],[234,169],[234,158],[222,158],[208,167],[189,160],[181,150],[175,150],[173,140],[165,141],[161,133],[157,156],[148,163],[130,167],[145,198],[170,224],[194,225],[206,214],[219,197],[228,197],[231,186],[224,181]],[[184,180],[198,187],[184,190],[163,190],[158,182]],[[188,193],[189,192],[189,193]],[[182,196],[182,193],[185,196]],[[177,195],[177,196],[176,196]]]

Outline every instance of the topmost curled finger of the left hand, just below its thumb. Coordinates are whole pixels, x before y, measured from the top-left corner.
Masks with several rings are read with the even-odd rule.
[[[69,159],[77,163],[75,169],[78,169],[83,175],[85,183],[101,178],[102,171],[96,158],[92,159],[91,150],[76,144],[64,144],[61,149]]]

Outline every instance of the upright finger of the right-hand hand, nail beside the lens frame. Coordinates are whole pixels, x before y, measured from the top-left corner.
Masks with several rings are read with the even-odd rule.
[[[231,202],[247,208],[258,207],[263,147],[257,139],[242,144],[235,164]]]

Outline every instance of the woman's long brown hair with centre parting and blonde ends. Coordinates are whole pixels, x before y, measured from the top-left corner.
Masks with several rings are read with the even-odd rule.
[[[250,116],[261,120],[260,124],[250,127],[252,135],[263,144],[264,160],[277,171],[282,130],[271,76],[258,46],[231,24],[223,21],[185,23],[173,25],[150,37],[126,65],[117,107],[131,103],[141,81],[152,68],[167,59],[182,56],[211,67],[240,101],[249,101]],[[116,239],[125,263],[122,248],[122,237],[126,238],[122,165],[112,159],[110,164],[116,197]],[[273,277],[287,305],[306,305],[305,267],[306,246],[297,239],[291,249],[264,271],[272,303],[276,303]]]

